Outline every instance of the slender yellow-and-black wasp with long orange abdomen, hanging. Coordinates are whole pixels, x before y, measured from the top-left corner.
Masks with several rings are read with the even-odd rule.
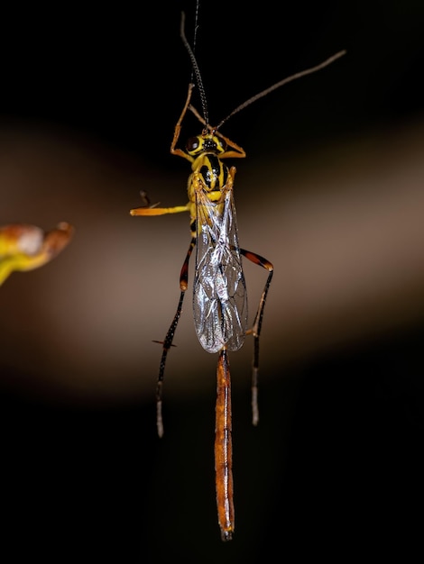
[[[173,207],[157,207],[150,205],[146,194],[143,193],[146,205],[131,210],[130,214],[163,215],[179,214],[180,212],[190,214],[191,239],[180,271],[180,300],[164,341],[159,341],[163,348],[156,392],[157,429],[159,436],[162,436],[161,405],[165,363],[188,288],[189,259],[196,248],[193,286],[194,323],[198,341],[202,347],[207,352],[218,353],[215,437],[217,514],[222,540],[229,541],[235,530],[235,511],[232,473],[231,381],[227,353],[228,350],[239,350],[246,334],[253,335],[252,410],[253,425],[256,425],[259,419],[257,397],[259,339],[263,310],[272,281],[273,266],[261,255],[244,250],[239,246],[234,201],[235,167],[228,168],[223,160],[243,159],[245,152],[218,130],[231,116],[243,110],[247,105],[251,105],[272,90],[296,78],[327,67],[346,51],[340,51],[315,67],[284,78],[249,98],[244,104],[237,106],[216,127],[212,127],[208,122],[207,101],[198,62],[184,32],[184,14],[181,16],[180,36],[189,52],[203,111],[203,115],[200,115],[190,104],[195,85],[189,84],[187,99],[175,126],[171,142],[171,154],[187,159],[191,164],[188,184],[189,202]],[[177,147],[177,144],[180,140],[181,126],[188,111],[202,123],[203,130],[198,136],[189,139],[186,149],[182,150]],[[247,329],[247,296],[242,257],[263,267],[268,273],[251,329]]]

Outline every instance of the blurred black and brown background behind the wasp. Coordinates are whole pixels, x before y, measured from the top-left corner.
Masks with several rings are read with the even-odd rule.
[[[220,541],[215,507],[217,358],[189,295],[156,436],[152,340],[177,306],[189,217],[128,213],[141,190],[186,202],[189,164],[169,148],[190,79],[180,11],[190,38],[195,2],[33,5],[2,13],[0,224],[76,232],[0,288],[2,562],[421,550],[424,5],[202,4],[212,123],[347,50],[222,130],[247,152],[241,245],[275,267],[257,428],[252,343],[230,355],[235,539]],[[197,132],[189,119],[182,136]],[[253,314],[266,274],[245,276]]]

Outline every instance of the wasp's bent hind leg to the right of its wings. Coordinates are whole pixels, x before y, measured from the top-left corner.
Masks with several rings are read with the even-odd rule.
[[[258,409],[258,373],[259,373],[259,337],[261,335],[261,328],[263,322],[263,309],[265,307],[266,296],[268,295],[268,290],[271,285],[272,275],[273,275],[273,266],[272,263],[261,257],[261,255],[257,255],[250,250],[240,249],[242,255],[249,259],[254,264],[259,265],[260,267],[265,268],[268,270],[268,277],[265,282],[265,286],[263,287],[263,293],[261,299],[259,300],[258,310],[254,317],[253,327],[249,331],[249,333],[253,334],[253,371],[252,371],[252,422],[253,425],[257,425],[259,421],[259,409]]]

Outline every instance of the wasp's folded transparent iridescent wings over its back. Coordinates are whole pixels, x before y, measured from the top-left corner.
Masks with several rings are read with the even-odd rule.
[[[247,297],[237,239],[233,190],[210,202],[197,193],[193,308],[198,340],[208,352],[238,350],[247,327]]]

